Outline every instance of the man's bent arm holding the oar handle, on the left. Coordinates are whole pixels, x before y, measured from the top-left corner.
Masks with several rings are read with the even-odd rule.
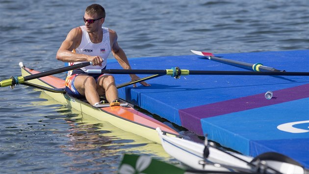
[[[79,46],[81,37],[82,31],[79,27],[72,29],[62,42],[57,52],[56,59],[64,62],[91,61],[93,65],[102,66],[103,59],[100,56],[88,56],[72,52]]]

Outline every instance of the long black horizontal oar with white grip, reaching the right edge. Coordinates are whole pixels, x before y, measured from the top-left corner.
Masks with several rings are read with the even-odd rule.
[[[103,69],[103,70],[87,70],[88,73],[99,74],[158,74],[170,75],[178,77],[180,75],[256,75],[256,76],[309,76],[309,72],[285,72],[285,71],[203,71],[203,70],[187,70],[176,67],[165,70],[151,69]]]

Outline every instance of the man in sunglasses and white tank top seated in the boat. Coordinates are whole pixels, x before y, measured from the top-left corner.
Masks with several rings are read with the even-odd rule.
[[[84,26],[72,29],[62,42],[56,58],[70,65],[91,61],[92,65],[68,72],[66,90],[76,97],[86,97],[92,105],[100,103],[105,95],[107,102],[117,102],[118,91],[114,77],[104,74],[88,74],[87,69],[105,69],[110,52],[124,69],[131,69],[128,58],[117,43],[117,33],[102,27],[105,10],[99,4],[89,5],[83,17]],[[131,80],[139,77],[130,75]],[[150,86],[141,82],[143,86]],[[136,87],[134,84],[133,87]]]

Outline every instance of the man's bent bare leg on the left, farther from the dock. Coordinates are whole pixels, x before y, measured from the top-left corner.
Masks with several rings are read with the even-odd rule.
[[[100,97],[97,92],[97,83],[93,77],[78,75],[74,80],[74,86],[81,95],[86,97],[91,105],[100,102]]]

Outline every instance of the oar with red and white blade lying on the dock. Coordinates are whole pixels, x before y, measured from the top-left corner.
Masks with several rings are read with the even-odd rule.
[[[215,57],[212,53],[206,53],[206,52],[195,51],[195,50],[191,50],[191,52],[199,56],[204,56],[209,60],[229,64],[232,66],[237,66],[240,68],[245,68],[251,71],[252,70],[262,71],[262,72],[283,72],[284,71],[284,70],[275,69],[273,67],[264,66],[261,63],[252,64],[252,63],[246,63],[246,62],[236,61],[236,60],[231,60],[231,59],[226,59],[226,58],[219,58],[219,57]]]

